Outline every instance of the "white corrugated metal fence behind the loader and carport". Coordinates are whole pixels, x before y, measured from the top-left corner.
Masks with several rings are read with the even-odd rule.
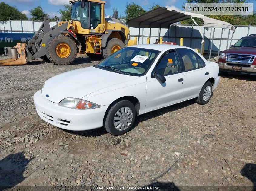
[[[11,22],[11,25],[10,25]],[[22,24],[21,24],[22,23]],[[0,24],[0,30],[5,30],[6,32],[24,32],[24,33],[33,33],[33,24],[34,30],[37,31],[41,26],[42,21],[7,21],[5,24]],[[54,26],[57,22],[50,22],[50,26]],[[11,30],[12,26],[12,30]],[[220,51],[225,50],[227,47],[229,48],[231,44],[234,44],[241,37],[247,36],[248,34],[256,34],[256,26],[234,26],[237,27],[236,31],[233,35],[233,40],[231,42],[232,31],[230,31],[228,37],[227,29],[223,30],[223,36],[221,41]],[[191,48],[201,48],[202,36],[200,34],[203,33],[204,28],[202,26],[198,27],[196,25],[182,25],[182,24],[173,24],[170,27],[169,34],[168,29],[161,29],[160,36],[163,37],[163,41],[167,42],[175,42],[180,44],[180,38],[183,38],[183,45],[189,46]],[[214,40],[212,45],[212,51],[218,52],[220,45],[220,37],[221,37],[221,28],[216,28],[214,32]],[[138,37],[139,29],[138,28],[130,28],[131,39],[134,37]],[[155,43],[155,40],[158,38],[159,29],[152,28],[151,29],[151,40],[150,43]],[[205,46],[204,50],[207,52],[210,50],[211,43],[210,38],[212,38],[213,29],[206,28],[205,31]],[[147,43],[147,37],[149,37],[149,29],[140,29],[140,44]],[[168,38],[169,37],[169,38]],[[228,40],[229,38],[229,40]],[[138,43],[138,40],[137,40]],[[228,43],[228,46],[227,46]],[[231,44],[230,44],[231,43]]]

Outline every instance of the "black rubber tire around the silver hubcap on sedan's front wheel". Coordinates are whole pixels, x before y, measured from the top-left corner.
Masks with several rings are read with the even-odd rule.
[[[127,120],[125,120],[124,118],[120,119],[120,121],[121,120],[125,120],[125,122],[123,123],[124,124],[124,128],[125,128],[125,123],[127,123],[127,125],[128,125],[128,127],[126,127],[126,129],[124,129],[124,130],[118,130],[115,127],[115,125],[114,125],[114,118],[115,118],[115,116],[116,116],[116,119],[117,118],[121,118],[121,116],[119,117],[118,114],[117,114],[117,112],[119,110],[121,110],[121,108],[129,108],[130,112],[132,112],[130,114],[127,112],[128,115],[126,115],[126,116],[123,115],[123,117],[125,117],[126,119],[129,116],[132,115],[132,119],[131,118],[128,118]],[[125,110],[123,110],[123,111],[125,111]],[[121,111],[120,111],[120,114],[122,114]],[[122,134],[125,134],[126,132],[128,132],[131,129],[131,127],[132,127],[132,125],[133,125],[133,123],[135,121],[135,117],[136,117],[136,110],[135,110],[134,105],[130,101],[128,101],[128,100],[122,100],[122,101],[119,101],[119,102],[115,103],[115,105],[113,105],[110,108],[110,110],[108,111],[107,116],[105,118],[104,127],[105,127],[106,131],[109,132],[112,135],[116,135],[116,136],[117,135],[122,135]],[[130,124],[128,124],[129,123],[129,119],[131,119]],[[115,123],[117,123],[117,122],[118,122],[118,120],[115,120]],[[118,128],[121,128],[123,126],[122,123],[120,123],[120,124],[121,124],[120,127],[118,127],[118,125],[117,125]]]

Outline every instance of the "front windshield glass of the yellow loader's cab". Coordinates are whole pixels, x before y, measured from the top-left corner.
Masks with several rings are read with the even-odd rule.
[[[88,29],[88,4],[85,3],[85,8],[81,8],[81,1],[75,2],[71,9],[71,19],[80,21],[84,29]]]

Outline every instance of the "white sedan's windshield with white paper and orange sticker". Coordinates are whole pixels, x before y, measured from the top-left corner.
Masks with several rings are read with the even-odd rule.
[[[160,51],[127,47],[108,56],[95,67],[125,75],[142,76]]]

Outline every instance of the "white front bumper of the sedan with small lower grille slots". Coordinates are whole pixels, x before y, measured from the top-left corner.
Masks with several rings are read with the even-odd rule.
[[[97,109],[76,110],[59,106],[45,99],[41,91],[34,94],[36,111],[41,119],[59,127],[72,131],[97,129],[103,126],[103,118],[108,106]]]

